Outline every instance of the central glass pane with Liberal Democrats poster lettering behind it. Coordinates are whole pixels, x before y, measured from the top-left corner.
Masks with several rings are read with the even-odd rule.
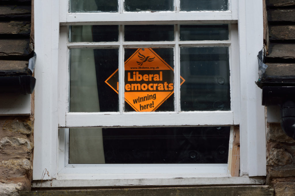
[[[125,49],[125,111],[174,111],[173,48]]]

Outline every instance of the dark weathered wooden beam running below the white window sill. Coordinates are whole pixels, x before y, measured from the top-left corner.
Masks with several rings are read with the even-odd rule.
[[[159,187],[159,188],[114,188],[97,190],[50,190],[25,191],[27,195],[273,195],[270,186],[222,186],[222,187]]]

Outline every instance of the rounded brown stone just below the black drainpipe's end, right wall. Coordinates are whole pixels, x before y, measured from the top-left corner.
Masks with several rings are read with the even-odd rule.
[[[267,166],[289,165],[292,163],[292,155],[281,148],[271,148],[267,157]]]

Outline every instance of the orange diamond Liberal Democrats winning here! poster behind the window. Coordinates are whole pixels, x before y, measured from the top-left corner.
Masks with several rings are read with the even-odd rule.
[[[174,93],[174,71],[152,48],[138,48],[124,63],[125,101],[137,112],[152,112]],[[118,93],[118,69],[106,79]],[[185,81],[180,77],[180,83]],[[180,85],[181,85],[180,84]]]

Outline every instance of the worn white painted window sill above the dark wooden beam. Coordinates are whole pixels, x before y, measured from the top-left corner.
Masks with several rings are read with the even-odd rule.
[[[52,180],[43,181],[42,187],[101,187],[101,186],[181,186],[181,185],[263,185],[263,178],[251,177],[188,177],[188,178],[145,178],[145,179],[112,179],[112,180]],[[41,181],[32,183],[40,187]]]

